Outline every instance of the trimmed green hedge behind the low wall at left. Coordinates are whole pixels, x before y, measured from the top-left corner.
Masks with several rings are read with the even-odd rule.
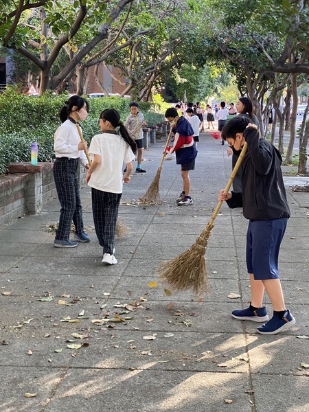
[[[32,141],[38,143],[38,161],[54,159],[54,133],[60,126],[58,113],[69,95],[45,93],[41,98],[34,98],[17,93],[14,87],[8,87],[0,95],[0,174],[7,172],[12,162],[30,161]],[[89,102],[89,116],[82,123],[84,139],[89,143],[92,137],[100,133],[98,118],[105,108],[115,108],[122,120],[130,113],[130,100],[125,98],[93,98]],[[140,103],[149,125],[164,120],[166,104],[164,102]]]

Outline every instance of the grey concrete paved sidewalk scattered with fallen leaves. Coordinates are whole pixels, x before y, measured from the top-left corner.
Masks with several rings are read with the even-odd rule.
[[[301,179],[286,179],[292,215],[280,269],[297,324],[277,336],[256,334],[258,324],[231,318],[250,297],[241,209],[222,205],[215,220],[201,304],[190,292],[168,297],[155,275],[162,260],[195,242],[231,174],[227,145],[203,133],[191,173],[194,205],[175,203],[182,184],[172,159],[161,172],[163,205],[137,206],[163,146],[152,144],[147,173],[124,185],[119,218],[130,234],[117,240],[117,265],[101,264],[89,187],[80,191],[88,244],[53,247],[47,226],[58,221],[56,199],[0,227],[1,412],[309,411],[309,339],[299,337],[309,337],[309,193],[291,192]],[[266,307],[271,312],[267,298]],[[103,317],[115,320],[98,322]]]

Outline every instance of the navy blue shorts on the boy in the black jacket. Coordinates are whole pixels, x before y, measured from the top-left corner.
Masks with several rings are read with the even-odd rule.
[[[287,218],[250,220],[246,260],[255,280],[279,279],[278,256],[287,222]]]

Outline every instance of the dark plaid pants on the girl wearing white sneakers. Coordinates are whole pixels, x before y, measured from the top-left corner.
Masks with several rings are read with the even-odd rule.
[[[118,209],[122,193],[91,188],[93,222],[103,253],[113,255]]]

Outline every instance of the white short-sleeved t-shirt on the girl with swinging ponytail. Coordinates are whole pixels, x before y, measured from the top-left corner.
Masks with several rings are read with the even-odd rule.
[[[135,159],[124,139],[113,133],[93,136],[89,155],[100,155],[101,163],[93,170],[88,185],[102,192],[122,193],[122,165]]]

